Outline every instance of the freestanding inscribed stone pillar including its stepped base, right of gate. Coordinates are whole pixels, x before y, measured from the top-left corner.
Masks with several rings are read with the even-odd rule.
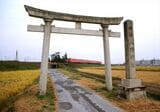
[[[145,87],[140,79],[136,79],[135,70],[135,49],[133,22],[124,22],[124,43],[125,43],[125,66],[126,78],[122,79],[121,95],[127,99],[135,99],[145,96]]]

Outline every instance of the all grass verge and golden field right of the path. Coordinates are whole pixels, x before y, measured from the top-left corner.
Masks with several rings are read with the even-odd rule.
[[[69,64],[61,69],[65,75],[77,83],[85,86],[97,94],[101,95],[104,99],[108,99],[115,105],[123,108],[128,112],[159,112],[160,111],[160,70],[155,70],[154,67],[142,67],[137,72],[138,78],[141,78],[147,86],[148,98],[128,101],[118,97],[118,84],[120,79],[125,77],[124,68],[121,66],[113,66],[113,86],[112,92],[107,91],[104,81],[103,66],[83,65],[83,64]],[[116,68],[116,69],[115,69]],[[149,71],[150,69],[150,71]]]

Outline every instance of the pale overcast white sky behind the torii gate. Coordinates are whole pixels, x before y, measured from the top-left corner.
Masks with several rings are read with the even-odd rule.
[[[110,37],[112,63],[124,62],[123,22],[134,22],[136,60],[160,59],[160,0],[0,0],[0,59],[41,59],[43,33],[27,32],[27,25],[44,24],[41,19],[29,17],[24,5],[50,11],[102,16],[124,17],[120,25],[109,26],[121,32],[120,38]],[[72,22],[54,21],[57,27],[74,27]],[[82,24],[84,29],[100,25]],[[65,52],[68,57],[103,61],[102,37],[52,34],[50,54]]]

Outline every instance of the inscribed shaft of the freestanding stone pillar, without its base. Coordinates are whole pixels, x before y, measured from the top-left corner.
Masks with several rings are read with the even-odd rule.
[[[126,78],[136,78],[135,73],[135,49],[134,49],[134,35],[133,22],[127,20],[124,22],[124,40],[125,40],[125,60],[126,60]]]

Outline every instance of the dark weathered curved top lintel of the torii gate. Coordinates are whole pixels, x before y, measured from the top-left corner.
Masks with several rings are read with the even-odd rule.
[[[24,5],[24,7],[28,12],[29,16],[43,18],[43,19],[51,19],[51,20],[94,23],[102,25],[118,25],[123,19],[123,17],[93,17],[93,16],[58,13],[58,12],[52,12],[34,8],[27,5]]]

